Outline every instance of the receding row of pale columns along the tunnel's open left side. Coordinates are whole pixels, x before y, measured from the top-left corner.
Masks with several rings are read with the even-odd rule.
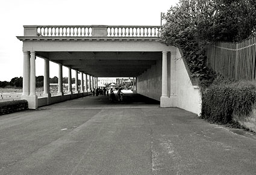
[[[44,79],[43,79],[43,97],[51,97],[49,90],[49,60],[44,60]],[[91,84],[92,79],[92,84]],[[86,84],[84,88],[84,73],[81,72],[81,93],[87,92],[87,74]],[[98,88],[98,78],[89,75],[89,89]],[[75,70],[75,93],[78,91],[78,71]],[[71,68],[68,67],[68,90],[67,94],[72,94],[72,74]],[[58,95],[63,96],[63,65],[58,64]],[[23,52],[23,93],[21,99],[28,100],[28,107],[30,109],[37,108],[37,95],[36,95],[36,52],[24,51]]]

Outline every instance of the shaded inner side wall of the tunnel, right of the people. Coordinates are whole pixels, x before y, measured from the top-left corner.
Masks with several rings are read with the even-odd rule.
[[[160,101],[162,83],[161,60],[137,77],[137,93]]]

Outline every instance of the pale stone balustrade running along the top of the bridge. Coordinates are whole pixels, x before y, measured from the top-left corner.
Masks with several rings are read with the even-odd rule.
[[[160,37],[161,26],[26,25],[25,37]]]

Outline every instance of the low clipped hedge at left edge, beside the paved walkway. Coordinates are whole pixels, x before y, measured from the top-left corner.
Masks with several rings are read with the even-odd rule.
[[[0,103],[0,115],[28,109],[27,100],[13,100]]]

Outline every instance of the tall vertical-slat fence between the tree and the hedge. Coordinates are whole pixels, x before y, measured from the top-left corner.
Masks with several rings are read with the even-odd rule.
[[[206,49],[207,65],[226,78],[252,81],[256,78],[256,35],[231,43],[217,42]]]

